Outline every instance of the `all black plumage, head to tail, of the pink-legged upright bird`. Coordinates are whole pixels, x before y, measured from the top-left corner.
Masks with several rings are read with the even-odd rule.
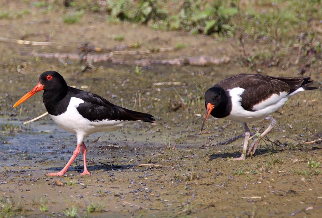
[[[47,79],[48,75],[52,76]],[[141,120],[155,121],[151,114],[136,112],[110,103],[103,97],[68,86],[63,77],[55,71],[43,72],[39,82],[44,85],[43,103],[49,114],[57,116],[66,112],[71,97],[80,98],[84,103],[77,107],[78,112],[90,121],[101,120]]]

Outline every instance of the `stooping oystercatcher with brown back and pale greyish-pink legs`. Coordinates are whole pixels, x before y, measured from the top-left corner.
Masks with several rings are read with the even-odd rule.
[[[313,81],[309,77],[277,77],[261,74],[238,74],[223,79],[204,94],[206,114],[201,130],[209,114],[241,123],[245,128],[243,152],[241,157],[232,160],[245,160],[250,135],[246,123],[263,118],[270,121],[268,128],[249,146],[247,155],[253,155],[260,139],[276,124],[269,115],[277,111],[293,95],[317,89],[304,86],[311,82]]]

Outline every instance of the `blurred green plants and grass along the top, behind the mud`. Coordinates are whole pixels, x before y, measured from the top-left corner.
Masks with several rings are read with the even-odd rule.
[[[23,0],[42,14],[63,11],[67,24],[80,23],[82,16],[100,14],[108,23],[130,22],[156,30],[181,30],[227,41],[240,51],[240,63],[277,66],[289,49],[298,49],[292,64],[310,71],[321,59],[321,0]],[[21,18],[30,10],[0,9],[0,19]],[[115,40],[121,41],[122,37]],[[269,46],[251,53],[248,45]],[[185,45],[178,45],[183,49]],[[288,67],[288,66],[286,66]]]

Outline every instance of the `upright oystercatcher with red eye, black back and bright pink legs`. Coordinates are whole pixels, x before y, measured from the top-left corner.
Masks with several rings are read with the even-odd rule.
[[[56,71],[43,72],[39,77],[39,83],[13,107],[40,90],[44,90],[43,103],[54,122],[77,137],[77,147],[65,167],[60,172],[48,173],[47,176],[65,174],[81,151],[84,158],[84,171],[81,175],[90,174],[86,166],[86,146],[83,142],[85,136],[96,132],[115,131],[137,121],[155,121],[150,114],[122,108],[97,94],[68,86],[62,75]]]

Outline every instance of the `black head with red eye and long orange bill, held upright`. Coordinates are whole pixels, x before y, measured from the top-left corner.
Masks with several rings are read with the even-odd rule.
[[[33,89],[22,96],[13,107],[23,103],[33,94],[39,92],[40,90],[44,90],[44,93],[48,91],[48,93],[54,93],[54,96],[64,96],[64,93],[67,93],[68,86],[62,77],[61,74],[57,73],[56,71],[46,71],[40,74],[39,76],[39,83],[33,87]]]

